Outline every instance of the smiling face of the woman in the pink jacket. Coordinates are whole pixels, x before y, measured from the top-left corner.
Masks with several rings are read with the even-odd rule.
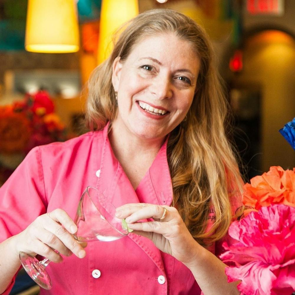
[[[118,92],[113,126],[142,139],[163,139],[189,111],[199,68],[190,43],[172,33],[137,43],[124,62],[113,63]]]

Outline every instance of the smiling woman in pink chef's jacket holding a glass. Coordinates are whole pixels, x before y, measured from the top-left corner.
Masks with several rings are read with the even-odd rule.
[[[240,206],[240,175],[212,54],[181,13],[151,10],[128,24],[89,81],[97,131],[33,149],[0,190],[0,293],[24,251],[61,262],[41,294],[239,294],[214,255]],[[89,185],[135,231],[89,243],[79,260],[72,219]]]

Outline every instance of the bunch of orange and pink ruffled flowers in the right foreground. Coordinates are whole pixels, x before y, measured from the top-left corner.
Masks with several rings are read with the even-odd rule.
[[[233,245],[220,258],[228,281],[245,295],[291,295],[295,290],[295,168],[273,166],[244,185],[245,217],[230,225]]]

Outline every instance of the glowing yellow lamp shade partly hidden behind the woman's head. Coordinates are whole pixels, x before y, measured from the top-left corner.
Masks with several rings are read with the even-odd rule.
[[[112,51],[112,34],[137,14],[138,0],[102,0],[97,55],[99,64],[108,58]]]

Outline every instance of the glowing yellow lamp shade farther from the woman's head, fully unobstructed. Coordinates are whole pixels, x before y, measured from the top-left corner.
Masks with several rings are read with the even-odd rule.
[[[79,50],[75,0],[29,0],[25,49],[32,52],[67,53]]]

